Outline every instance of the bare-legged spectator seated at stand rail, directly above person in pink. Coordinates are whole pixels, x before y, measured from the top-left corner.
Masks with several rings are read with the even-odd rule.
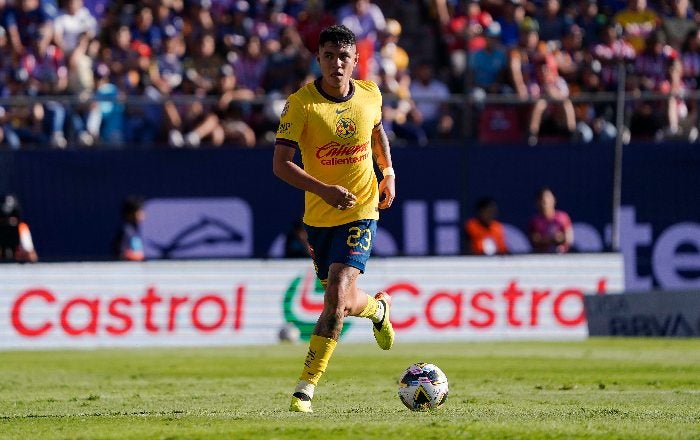
[[[540,42],[537,22],[527,18],[521,27],[520,44],[510,51],[508,64],[513,86],[523,100],[534,100],[529,113],[528,144],[539,142],[543,122],[569,137],[576,130],[576,115],[569,87],[559,76],[549,47]]]

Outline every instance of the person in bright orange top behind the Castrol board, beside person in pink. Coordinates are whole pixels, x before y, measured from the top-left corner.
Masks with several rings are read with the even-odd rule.
[[[496,220],[498,205],[491,197],[476,202],[476,216],[464,222],[468,251],[473,255],[509,253],[503,224]]]

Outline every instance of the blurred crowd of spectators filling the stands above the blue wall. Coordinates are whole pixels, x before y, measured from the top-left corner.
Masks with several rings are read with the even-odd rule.
[[[0,0],[0,141],[11,149],[272,145],[286,96],[319,74],[320,29],[336,22],[358,36],[356,75],[385,93],[384,124],[399,145],[494,133],[531,145],[546,136],[608,141],[618,129],[627,139],[695,141],[694,6]],[[578,99],[617,92],[621,74],[630,96],[653,98],[627,101],[624,127],[614,100]],[[494,103],[494,94],[512,103]]]

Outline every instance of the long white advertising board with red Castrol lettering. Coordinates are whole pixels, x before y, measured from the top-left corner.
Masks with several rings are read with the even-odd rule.
[[[374,258],[402,342],[582,339],[585,295],[623,289],[620,254]],[[306,260],[0,265],[0,349],[247,345],[308,338],[323,289]],[[371,342],[350,318],[342,339]]]

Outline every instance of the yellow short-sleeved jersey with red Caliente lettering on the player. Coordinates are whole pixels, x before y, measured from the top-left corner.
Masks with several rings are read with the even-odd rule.
[[[305,193],[304,223],[328,227],[379,218],[379,188],[372,157],[372,130],[381,123],[382,95],[372,81],[351,80],[343,98],[328,95],[320,79],[289,96],[280,116],[276,143],[297,148],[304,170],[357,196],[339,210]]]

